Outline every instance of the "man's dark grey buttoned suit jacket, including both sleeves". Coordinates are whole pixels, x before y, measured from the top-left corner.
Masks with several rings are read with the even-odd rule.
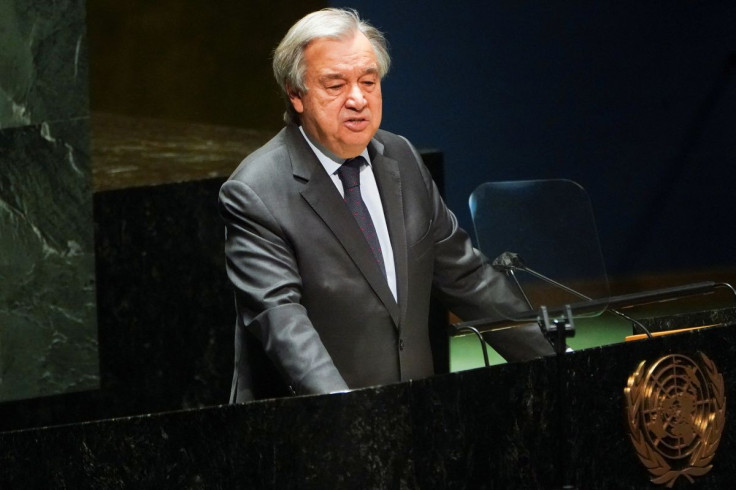
[[[231,401],[430,376],[431,291],[464,320],[518,302],[458,227],[413,147],[379,131],[368,151],[398,303],[296,126],[249,155],[223,184],[219,205],[237,304]],[[538,329],[512,337],[530,357],[552,353]]]

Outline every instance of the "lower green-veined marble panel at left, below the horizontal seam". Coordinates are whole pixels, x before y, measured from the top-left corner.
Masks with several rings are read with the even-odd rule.
[[[99,383],[86,120],[0,131],[0,400]]]

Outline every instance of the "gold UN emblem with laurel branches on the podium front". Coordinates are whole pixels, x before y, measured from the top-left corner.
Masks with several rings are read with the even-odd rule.
[[[642,361],[624,388],[629,436],[655,484],[705,475],[726,418],[723,376],[713,361],[671,354]]]

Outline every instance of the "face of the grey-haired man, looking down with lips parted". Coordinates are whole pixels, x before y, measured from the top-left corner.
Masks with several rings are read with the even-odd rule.
[[[304,130],[340,158],[359,155],[381,124],[381,79],[370,41],[316,39],[304,50],[305,93],[290,94]]]

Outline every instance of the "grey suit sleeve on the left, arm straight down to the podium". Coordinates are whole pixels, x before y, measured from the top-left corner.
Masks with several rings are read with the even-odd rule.
[[[297,394],[343,391],[347,385],[300,304],[301,277],[292,248],[272,213],[243,182],[223,184],[228,277],[238,324],[254,335]],[[242,355],[236,352],[237,356]]]

